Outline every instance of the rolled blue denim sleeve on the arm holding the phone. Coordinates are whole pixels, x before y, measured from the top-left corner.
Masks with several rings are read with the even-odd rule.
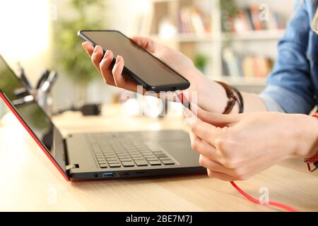
[[[309,33],[310,18],[305,1],[278,44],[278,59],[260,95],[266,106],[270,105],[268,100],[273,100],[283,112],[302,114],[308,114],[314,107],[310,62],[306,57]]]

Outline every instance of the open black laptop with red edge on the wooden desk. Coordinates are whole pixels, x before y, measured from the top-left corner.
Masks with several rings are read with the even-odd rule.
[[[0,56],[0,96],[66,180],[205,172],[182,130],[74,133],[66,138],[37,102],[20,104],[25,88]],[[25,97],[26,98],[26,97]]]

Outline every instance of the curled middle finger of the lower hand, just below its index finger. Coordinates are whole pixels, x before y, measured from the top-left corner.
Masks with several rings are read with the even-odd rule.
[[[197,153],[201,155],[204,155],[205,157],[208,157],[210,160],[220,162],[222,158],[221,153],[218,150],[216,150],[216,148],[213,145],[202,140],[201,138],[196,136],[192,131],[189,132],[189,135],[193,150],[195,150]]]

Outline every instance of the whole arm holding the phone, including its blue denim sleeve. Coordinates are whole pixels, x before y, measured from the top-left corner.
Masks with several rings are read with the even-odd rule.
[[[269,109],[308,113],[312,109],[314,97],[310,81],[310,66],[306,58],[309,30],[310,22],[305,4],[303,4],[288,25],[286,35],[279,44],[278,60],[269,77],[266,90],[261,96],[242,93],[245,112],[264,112]],[[184,91],[188,100],[210,112],[222,113],[224,111],[228,102],[225,90],[195,69],[189,58],[146,37],[134,37],[134,41],[190,81],[190,88]],[[114,56],[110,50],[106,52],[107,56],[105,54],[103,57],[101,47],[97,46],[94,49],[88,42],[84,42],[83,47],[90,55],[96,69],[102,73],[107,84],[136,91],[136,83],[122,76],[124,67],[122,57],[117,57],[112,69],[110,62]],[[197,102],[192,100],[193,92],[197,94]],[[167,99],[169,100],[169,98]],[[269,105],[277,105],[277,107],[273,108]],[[238,106],[236,105],[231,113],[237,112]]]

